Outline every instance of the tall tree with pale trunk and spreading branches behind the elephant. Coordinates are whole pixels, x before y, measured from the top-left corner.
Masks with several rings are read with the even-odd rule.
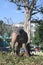
[[[43,12],[43,7],[36,6],[38,0],[9,0],[18,6],[18,10],[24,7],[25,23],[24,30],[28,34],[28,42],[30,42],[30,21],[31,17],[38,12]]]

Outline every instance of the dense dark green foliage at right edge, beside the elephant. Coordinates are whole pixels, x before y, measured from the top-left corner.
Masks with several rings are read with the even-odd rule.
[[[33,43],[39,45],[43,42],[43,21],[37,26]]]

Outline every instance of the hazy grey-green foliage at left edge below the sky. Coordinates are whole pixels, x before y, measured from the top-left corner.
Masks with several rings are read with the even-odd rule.
[[[3,36],[5,32],[7,32],[9,36],[11,35],[11,25],[5,24],[4,21],[0,20],[0,34]]]

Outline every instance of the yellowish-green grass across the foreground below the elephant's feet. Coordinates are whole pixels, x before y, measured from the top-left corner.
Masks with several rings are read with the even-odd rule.
[[[43,65],[43,56],[18,57],[0,52],[0,65]]]

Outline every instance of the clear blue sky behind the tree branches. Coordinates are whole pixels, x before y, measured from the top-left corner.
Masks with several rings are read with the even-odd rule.
[[[39,0],[37,4],[41,4],[40,1],[43,2],[43,0]],[[17,6],[8,0],[0,0],[0,20],[3,20],[5,23],[16,24],[23,22],[25,20],[23,11],[23,8],[21,11],[18,11]],[[35,16],[37,17],[37,15]],[[39,19],[41,18],[39,13],[38,17]]]

